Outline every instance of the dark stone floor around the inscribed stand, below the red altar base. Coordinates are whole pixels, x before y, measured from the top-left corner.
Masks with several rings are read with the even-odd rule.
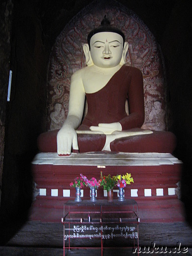
[[[181,248],[188,248],[186,253],[175,254],[174,248],[177,243],[181,243]],[[155,243],[155,245],[154,245]],[[82,242],[83,246],[83,242]],[[152,256],[165,255],[192,255],[192,228],[185,222],[179,223],[140,223],[139,224],[139,246],[141,252],[138,255],[146,255],[145,247],[161,248],[162,253],[150,253]],[[172,252],[166,253],[166,249],[173,247]],[[177,248],[179,247],[179,244]],[[149,249],[146,249],[149,250]],[[181,250],[181,251],[182,251]],[[149,251],[148,251],[149,252]],[[156,252],[156,253],[155,253]],[[63,224],[62,223],[42,223],[27,222],[8,241],[5,246],[0,247],[0,256],[62,256],[63,252]],[[100,249],[97,250],[66,250],[65,256],[99,256]],[[107,249],[103,250],[103,256],[133,256],[130,249]]]

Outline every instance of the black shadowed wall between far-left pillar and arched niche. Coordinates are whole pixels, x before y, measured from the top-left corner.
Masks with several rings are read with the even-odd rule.
[[[1,242],[7,241],[15,228],[18,228],[17,224],[10,223],[13,216],[17,223],[24,222],[28,216],[32,203],[31,161],[37,152],[36,138],[45,130],[48,58],[43,45],[41,24],[31,2],[14,1],[13,8],[9,64],[12,85],[10,102],[6,106],[6,119],[4,118],[5,146],[0,209],[0,224],[6,225],[6,229],[2,228],[6,232],[2,235]],[[10,52],[10,43],[8,49]],[[3,50],[6,53],[6,49]],[[8,70],[3,73],[6,73],[7,81]],[[4,105],[3,108],[5,109]]]

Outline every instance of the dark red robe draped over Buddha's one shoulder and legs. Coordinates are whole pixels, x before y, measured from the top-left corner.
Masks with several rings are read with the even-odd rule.
[[[88,113],[78,128],[89,130],[99,123],[120,122],[123,130],[141,130],[144,122],[143,77],[138,68],[122,66],[98,92],[86,94]],[[128,98],[129,115],[125,110]],[[41,152],[57,152],[57,132],[39,135],[37,144]],[[79,152],[101,151],[105,144],[104,134],[78,134]],[[153,131],[152,134],[119,138],[110,143],[112,152],[172,153],[176,137],[169,131]]]

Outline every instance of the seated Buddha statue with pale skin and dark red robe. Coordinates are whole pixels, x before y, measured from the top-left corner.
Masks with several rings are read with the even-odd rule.
[[[70,155],[71,150],[172,153],[174,134],[141,129],[145,118],[143,77],[138,68],[126,65],[124,33],[110,26],[105,16],[89,33],[83,50],[87,66],[71,77],[67,118],[59,131],[39,136],[40,151],[57,151],[58,155]],[[85,97],[88,112],[82,120]]]

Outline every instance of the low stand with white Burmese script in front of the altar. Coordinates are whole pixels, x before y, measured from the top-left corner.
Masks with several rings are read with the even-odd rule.
[[[136,248],[138,206],[133,199],[67,201],[64,204],[64,250]]]

